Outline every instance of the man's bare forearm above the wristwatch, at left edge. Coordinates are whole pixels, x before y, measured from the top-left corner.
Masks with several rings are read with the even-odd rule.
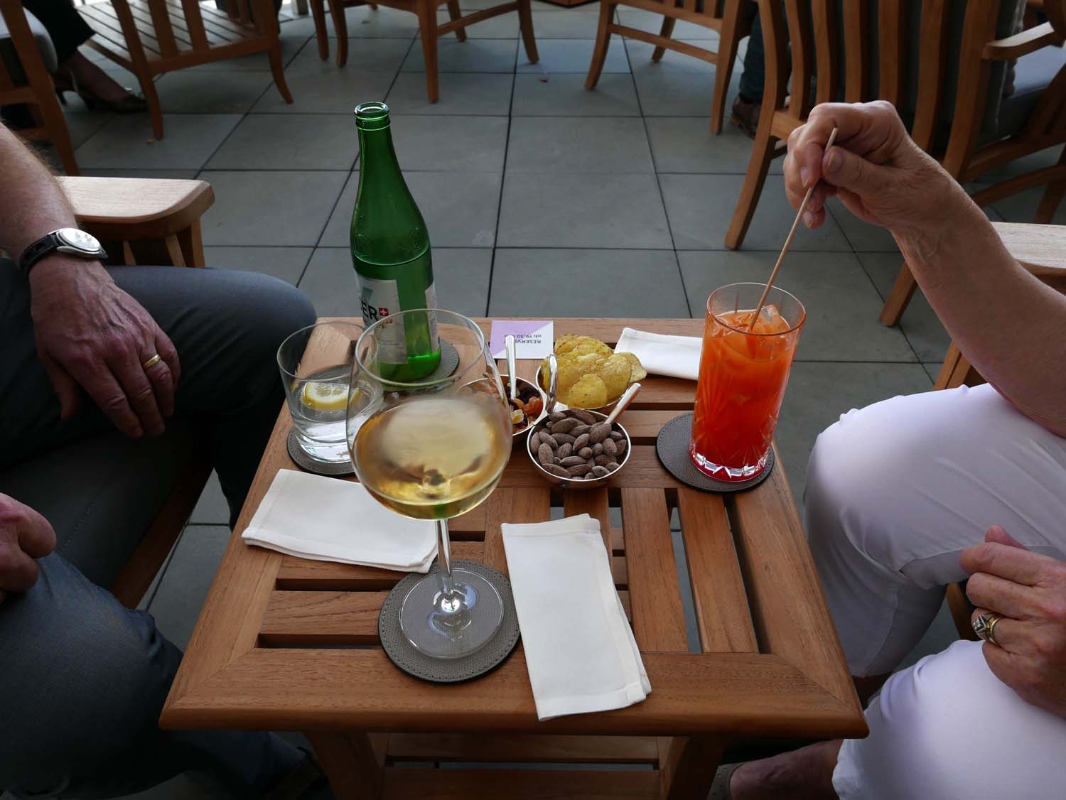
[[[46,233],[72,227],[74,210],[55,178],[0,125],[0,248],[17,261]]]

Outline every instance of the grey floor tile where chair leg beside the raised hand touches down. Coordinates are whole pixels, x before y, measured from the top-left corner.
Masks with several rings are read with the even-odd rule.
[[[659,181],[677,248],[725,249],[726,231],[729,229],[744,177],[661,175]],[[776,175],[769,176],[743,249],[779,251],[794,218],[795,211],[785,196],[785,179]],[[801,225],[792,240],[790,252],[851,249],[840,226],[826,218],[818,230],[808,230]]]

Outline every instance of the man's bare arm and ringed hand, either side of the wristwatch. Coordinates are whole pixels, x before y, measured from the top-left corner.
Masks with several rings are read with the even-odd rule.
[[[77,227],[59,183],[0,125],[0,247],[18,261],[27,246],[56,228]],[[155,320],[115,285],[98,261],[52,252],[30,273],[37,355],[74,417],[84,390],[131,437],[163,432],[174,412],[178,354]],[[161,361],[143,364],[159,354]]]

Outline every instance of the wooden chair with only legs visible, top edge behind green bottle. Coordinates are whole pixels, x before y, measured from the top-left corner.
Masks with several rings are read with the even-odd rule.
[[[323,61],[329,58],[329,40],[326,38],[324,0],[310,0],[311,14],[314,17],[314,32],[319,45],[319,58]],[[450,20],[443,25],[437,23],[437,7],[448,5]],[[536,51],[536,38],[533,36],[533,13],[530,0],[508,0],[508,2],[481,9],[464,15],[459,11],[459,0],[375,0],[367,3],[365,0],[329,0],[329,14],[337,34],[337,66],[348,63],[348,18],[344,10],[356,5],[370,5],[376,9],[384,5],[388,9],[409,11],[418,16],[418,28],[422,39],[422,55],[425,58],[425,89],[430,102],[440,99],[440,76],[437,70],[437,38],[455,32],[455,38],[466,42],[466,27],[484,19],[498,17],[513,11],[518,12],[518,27],[522,34],[522,45],[526,56],[532,63],[539,61]]]

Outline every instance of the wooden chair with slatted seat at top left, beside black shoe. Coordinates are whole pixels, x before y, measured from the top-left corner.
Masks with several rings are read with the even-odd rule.
[[[156,138],[163,112],[154,79],[198,64],[266,53],[274,85],[292,102],[285,82],[272,0],[230,0],[229,13],[197,0],[109,0],[78,6],[95,34],[90,46],[138,77]]]

